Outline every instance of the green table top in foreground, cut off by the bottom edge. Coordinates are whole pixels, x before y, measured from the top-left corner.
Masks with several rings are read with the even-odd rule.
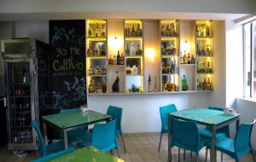
[[[51,159],[49,162],[124,162],[124,160],[96,148],[81,148],[72,153]]]

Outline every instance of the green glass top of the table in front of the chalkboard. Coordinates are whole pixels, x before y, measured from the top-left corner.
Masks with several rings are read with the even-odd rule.
[[[82,124],[92,124],[97,121],[110,119],[112,116],[105,113],[97,113],[89,110],[88,112],[82,112],[81,110],[70,113],[55,113],[42,117],[44,121],[54,124],[61,129],[67,129]]]

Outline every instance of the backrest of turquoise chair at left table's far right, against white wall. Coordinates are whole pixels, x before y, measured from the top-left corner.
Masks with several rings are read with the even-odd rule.
[[[123,108],[109,106],[107,114],[113,116],[113,119],[116,119],[116,129],[121,131],[121,121],[122,121]]]

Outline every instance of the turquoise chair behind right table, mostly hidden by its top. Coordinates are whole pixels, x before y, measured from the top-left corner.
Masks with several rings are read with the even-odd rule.
[[[224,108],[222,108],[222,107],[210,106],[210,107],[208,107],[208,109],[224,111]],[[207,126],[205,129],[200,129],[199,134],[200,134],[200,136],[204,136],[206,138],[212,139],[211,127]],[[223,137],[223,136],[230,137],[230,125],[226,125],[223,128],[216,130],[216,139],[218,139],[219,137]]]

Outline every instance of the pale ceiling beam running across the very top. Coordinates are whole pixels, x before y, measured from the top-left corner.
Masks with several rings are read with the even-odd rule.
[[[253,0],[9,0],[0,1],[0,13],[58,13],[84,11],[163,11],[250,14]]]

